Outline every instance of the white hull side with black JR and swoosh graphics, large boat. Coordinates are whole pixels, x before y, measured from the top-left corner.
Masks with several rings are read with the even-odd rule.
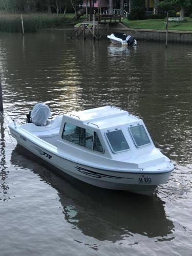
[[[60,152],[57,152],[56,147],[53,147],[55,148],[55,151],[47,150],[46,144],[45,146],[42,146],[44,141],[38,139],[39,143],[34,143],[29,138],[24,137],[22,133],[19,133],[19,129],[12,129],[10,127],[10,131],[18,144],[25,147],[31,153],[46,160],[62,172],[97,187],[126,190],[137,194],[151,196],[157,185],[166,183],[172,171],[170,170],[170,172],[164,173],[153,172],[151,174],[142,170],[138,172],[127,170],[125,172],[124,170],[94,168],[93,166],[80,164],[78,161],[76,162],[66,159]]]

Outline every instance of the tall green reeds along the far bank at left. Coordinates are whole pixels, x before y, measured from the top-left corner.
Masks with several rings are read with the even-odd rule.
[[[74,14],[67,13],[56,16],[55,14],[33,13],[23,14],[25,32],[36,32],[38,29],[56,28],[65,25],[75,25],[72,20]],[[83,17],[80,18],[80,21]],[[1,32],[22,32],[22,22],[20,14],[0,14],[0,31]]]

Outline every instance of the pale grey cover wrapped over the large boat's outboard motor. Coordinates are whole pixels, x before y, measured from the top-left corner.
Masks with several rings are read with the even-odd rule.
[[[51,117],[51,111],[49,106],[43,103],[37,103],[34,105],[31,112],[31,120],[35,125],[44,126],[47,123],[49,117]]]

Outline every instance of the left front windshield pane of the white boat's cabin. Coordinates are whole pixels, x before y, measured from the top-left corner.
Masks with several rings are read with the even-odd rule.
[[[130,149],[121,130],[108,132],[105,135],[114,153]]]

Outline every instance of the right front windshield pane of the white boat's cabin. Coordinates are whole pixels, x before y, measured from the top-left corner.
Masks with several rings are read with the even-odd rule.
[[[142,124],[129,127],[129,130],[134,140],[134,143],[137,147],[144,146],[151,143],[150,138],[148,138],[148,135]]]

